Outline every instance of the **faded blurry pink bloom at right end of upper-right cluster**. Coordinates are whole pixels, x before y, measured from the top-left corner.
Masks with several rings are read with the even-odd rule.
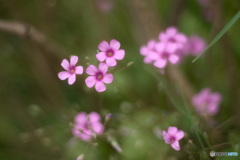
[[[192,35],[188,38],[187,42],[187,52],[189,54],[198,56],[200,53],[204,51],[206,48],[206,42],[204,39],[197,35]]]

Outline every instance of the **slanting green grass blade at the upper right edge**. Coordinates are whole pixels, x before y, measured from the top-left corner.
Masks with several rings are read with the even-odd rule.
[[[228,22],[228,24],[221,30],[220,33],[209,43],[207,48],[199,55],[197,56],[192,62],[195,62],[199,57],[203,55],[209,48],[211,48],[231,27],[232,25],[240,18],[240,11],[235,14],[235,16]]]

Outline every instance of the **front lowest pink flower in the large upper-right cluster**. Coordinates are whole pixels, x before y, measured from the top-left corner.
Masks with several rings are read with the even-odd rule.
[[[156,54],[151,54],[154,59],[153,65],[157,68],[164,68],[169,61],[176,64],[179,61],[179,56],[175,54],[177,46],[174,43],[159,42],[155,45]]]

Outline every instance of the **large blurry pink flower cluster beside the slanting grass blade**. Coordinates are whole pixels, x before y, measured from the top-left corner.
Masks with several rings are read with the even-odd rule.
[[[167,28],[159,34],[158,39],[150,40],[146,46],[142,46],[140,54],[144,56],[144,63],[153,63],[159,69],[165,68],[168,62],[178,63],[183,56],[198,55],[206,46],[202,38],[196,35],[187,38],[176,27]]]

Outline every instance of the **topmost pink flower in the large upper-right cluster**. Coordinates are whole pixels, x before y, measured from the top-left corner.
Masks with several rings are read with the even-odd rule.
[[[160,42],[171,42],[177,46],[177,49],[184,47],[184,44],[187,42],[187,37],[179,33],[176,27],[167,28],[166,32],[161,32],[159,34]]]

